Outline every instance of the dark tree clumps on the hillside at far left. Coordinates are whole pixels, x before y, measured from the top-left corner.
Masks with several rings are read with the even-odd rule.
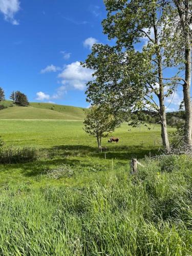
[[[18,106],[28,106],[29,101],[27,95],[20,91],[13,91],[10,95],[10,99],[13,101],[14,104]],[[0,87],[0,102],[5,101],[5,91],[3,88]]]

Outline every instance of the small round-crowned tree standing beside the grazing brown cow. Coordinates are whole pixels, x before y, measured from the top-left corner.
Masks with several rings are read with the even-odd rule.
[[[84,120],[84,131],[95,136],[98,147],[101,147],[102,137],[108,136],[117,126],[120,125],[120,118],[110,114],[109,106],[94,105],[91,107]]]

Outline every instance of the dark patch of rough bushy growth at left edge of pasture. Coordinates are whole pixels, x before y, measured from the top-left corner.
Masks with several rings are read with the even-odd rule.
[[[37,157],[38,151],[33,147],[7,147],[0,149],[0,163],[2,164],[31,162],[37,159]]]

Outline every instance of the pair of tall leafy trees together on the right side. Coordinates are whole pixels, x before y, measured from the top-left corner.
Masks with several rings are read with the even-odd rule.
[[[95,44],[82,63],[94,72],[87,83],[88,102],[98,107],[107,104],[114,116],[129,113],[135,123],[139,120],[136,113],[156,112],[163,146],[169,153],[165,99],[174,97],[181,87],[183,141],[192,150],[192,1],[104,0],[104,4],[103,33],[115,44]]]

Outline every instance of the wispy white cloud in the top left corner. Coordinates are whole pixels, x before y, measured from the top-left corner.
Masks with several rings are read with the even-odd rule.
[[[20,9],[18,0],[0,0],[0,12],[4,14],[5,20],[13,25],[18,25],[18,21],[14,18],[16,12]]]

